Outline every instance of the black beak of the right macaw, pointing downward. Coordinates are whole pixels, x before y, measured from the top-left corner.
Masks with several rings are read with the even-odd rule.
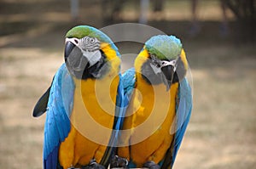
[[[172,85],[172,79],[174,75],[173,66],[166,65],[166,66],[163,66],[161,70],[162,70],[162,81],[166,85],[166,91],[169,91]]]

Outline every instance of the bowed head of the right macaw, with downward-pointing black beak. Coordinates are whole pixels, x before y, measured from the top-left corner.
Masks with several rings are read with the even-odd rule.
[[[145,42],[143,52],[146,57],[140,72],[150,84],[164,83],[168,91],[172,83],[183,79],[188,69],[188,62],[182,43],[177,37],[158,35]]]

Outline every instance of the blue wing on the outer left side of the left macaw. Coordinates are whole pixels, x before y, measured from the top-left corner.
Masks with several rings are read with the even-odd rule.
[[[56,72],[50,88],[44,125],[44,168],[56,168],[59,146],[70,132],[74,83],[65,64]]]

